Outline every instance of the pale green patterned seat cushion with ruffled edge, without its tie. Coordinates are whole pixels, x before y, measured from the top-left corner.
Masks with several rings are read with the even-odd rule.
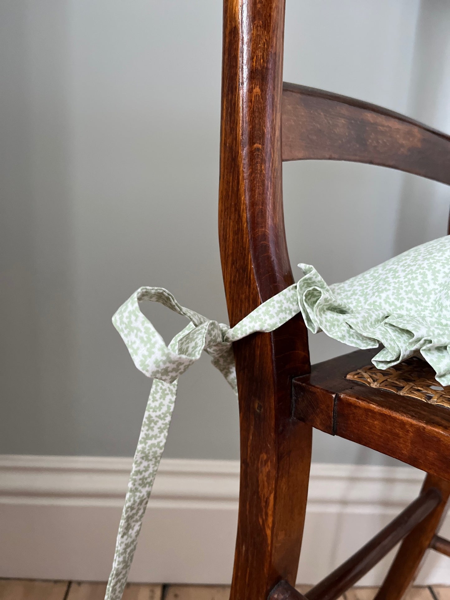
[[[299,264],[299,306],[310,331],[357,348],[383,348],[380,369],[417,353],[450,385],[450,236],[399,254],[361,275],[328,286]]]

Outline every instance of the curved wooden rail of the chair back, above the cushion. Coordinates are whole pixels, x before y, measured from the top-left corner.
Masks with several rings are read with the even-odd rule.
[[[450,136],[375,104],[283,83],[283,161],[377,164],[450,185]]]

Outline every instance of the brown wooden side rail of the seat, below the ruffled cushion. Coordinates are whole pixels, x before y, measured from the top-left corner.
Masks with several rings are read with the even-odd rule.
[[[326,433],[450,480],[450,409],[345,379],[377,349],[314,365],[293,380],[293,413]]]

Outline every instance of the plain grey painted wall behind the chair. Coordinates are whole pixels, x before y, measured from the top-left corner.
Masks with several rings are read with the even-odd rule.
[[[445,0],[287,0],[284,79],[450,130]],[[0,452],[131,455],[150,382],[110,323],[140,285],[227,320],[217,242],[220,0],[0,0]],[[443,98],[436,101],[435,98]],[[330,283],[445,233],[443,186],[353,164],[284,165],[293,268]],[[166,340],[183,325],[145,308]],[[314,361],[347,347],[311,339]],[[166,456],[238,457],[205,356]],[[387,459],[316,436],[319,461]]]

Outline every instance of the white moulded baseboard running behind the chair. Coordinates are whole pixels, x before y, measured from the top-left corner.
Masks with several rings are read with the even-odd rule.
[[[130,458],[0,455],[0,577],[104,581]],[[417,495],[409,467],[313,464],[299,583],[316,583]],[[239,488],[237,461],[161,462],[130,581],[227,584]],[[450,534],[450,520],[442,529]],[[419,583],[450,584],[430,551]],[[388,561],[361,584],[382,580]]]

